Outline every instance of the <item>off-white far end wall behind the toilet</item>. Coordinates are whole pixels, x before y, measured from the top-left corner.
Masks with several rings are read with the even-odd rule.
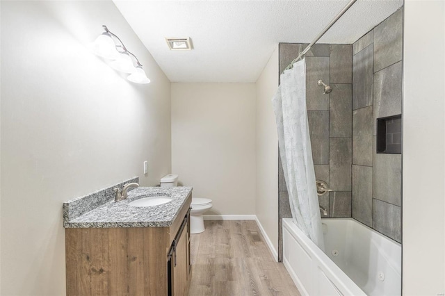
[[[255,213],[254,83],[172,83],[172,172],[213,200],[210,215]]]

